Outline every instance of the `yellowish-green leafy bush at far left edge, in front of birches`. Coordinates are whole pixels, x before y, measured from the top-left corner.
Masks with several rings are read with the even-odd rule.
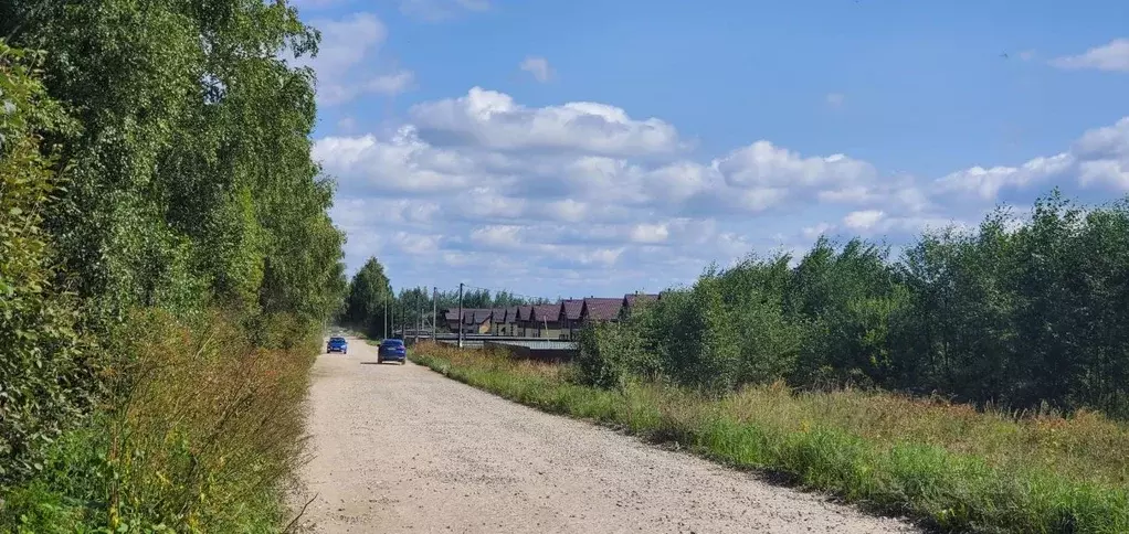
[[[53,287],[43,231],[60,180],[42,135],[71,124],[36,80],[40,61],[0,41],[0,488],[41,471],[41,450],[88,402],[78,314]]]

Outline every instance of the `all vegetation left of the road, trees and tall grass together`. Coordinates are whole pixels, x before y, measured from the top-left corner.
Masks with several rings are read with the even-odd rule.
[[[345,279],[282,2],[0,1],[0,532],[277,532]]]

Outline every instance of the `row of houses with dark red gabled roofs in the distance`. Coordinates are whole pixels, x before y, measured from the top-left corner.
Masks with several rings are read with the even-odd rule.
[[[541,339],[575,339],[587,322],[619,321],[631,309],[662,295],[629,293],[622,297],[568,299],[555,304],[496,309],[445,310],[452,332]]]

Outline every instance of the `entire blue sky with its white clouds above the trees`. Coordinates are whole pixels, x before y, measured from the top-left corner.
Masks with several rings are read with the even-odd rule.
[[[536,296],[685,284],[1129,189],[1129,3],[298,0],[347,261]]]

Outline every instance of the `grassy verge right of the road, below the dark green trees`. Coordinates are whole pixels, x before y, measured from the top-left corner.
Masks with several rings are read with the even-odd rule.
[[[1129,429],[1097,413],[979,412],[774,384],[721,398],[577,385],[567,366],[421,347],[413,361],[539,409],[675,442],[948,532],[1129,532]]]

